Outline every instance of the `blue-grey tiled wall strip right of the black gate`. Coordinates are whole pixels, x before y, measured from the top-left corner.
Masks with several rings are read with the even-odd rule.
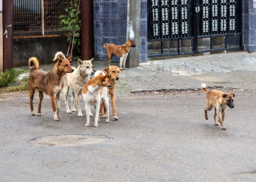
[[[245,51],[256,51],[256,2],[242,1],[242,46]]]

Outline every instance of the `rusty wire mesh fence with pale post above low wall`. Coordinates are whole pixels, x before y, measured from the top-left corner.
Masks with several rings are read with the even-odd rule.
[[[13,1],[14,38],[71,35],[78,0]]]

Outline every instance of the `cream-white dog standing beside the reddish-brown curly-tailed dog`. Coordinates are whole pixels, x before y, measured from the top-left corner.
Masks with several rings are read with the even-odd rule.
[[[66,78],[64,80],[64,95],[65,95],[65,106],[67,113],[76,112],[75,109],[75,99],[76,105],[78,108],[78,117],[82,117],[82,111],[79,101],[79,95],[83,89],[83,86],[86,82],[90,80],[90,75],[94,74],[93,65],[91,64],[91,60],[82,61],[78,59],[78,67],[74,68],[74,72],[66,74]],[[72,90],[72,99],[71,99],[71,111],[68,107],[68,90],[71,88]]]

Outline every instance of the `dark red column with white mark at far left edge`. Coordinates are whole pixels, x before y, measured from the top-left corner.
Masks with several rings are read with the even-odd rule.
[[[13,68],[13,0],[3,0],[3,71]]]

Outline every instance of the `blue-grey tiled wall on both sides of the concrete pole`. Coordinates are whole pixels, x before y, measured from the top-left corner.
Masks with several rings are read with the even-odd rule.
[[[122,45],[127,33],[127,0],[94,0],[94,58],[107,61],[103,44]],[[140,61],[147,60],[147,1],[141,0]],[[113,56],[113,62],[119,62]]]

